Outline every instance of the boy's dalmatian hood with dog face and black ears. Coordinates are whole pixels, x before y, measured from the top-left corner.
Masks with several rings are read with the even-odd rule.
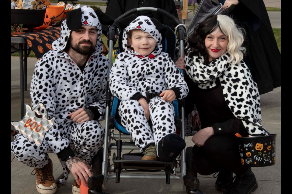
[[[123,31],[123,50],[127,53],[131,53],[134,55],[140,55],[134,50],[131,49],[130,43],[128,42],[128,33],[130,30],[138,29],[143,32],[147,32],[150,34],[156,41],[156,48],[154,52],[152,52],[153,55],[157,55],[160,52],[162,52],[162,44],[161,42],[164,41],[165,38],[165,32],[166,28],[163,26],[158,20],[155,18],[149,18],[147,16],[141,15],[137,18],[134,18],[136,16],[130,16],[126,20],[130,20],[131,22],[128,23],[128,26]],[[133,21],[134,18],[134,21]],[[126,24],[127,21],[121,21],[123,24]]]

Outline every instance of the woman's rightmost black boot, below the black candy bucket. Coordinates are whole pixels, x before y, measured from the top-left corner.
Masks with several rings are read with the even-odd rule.
[[[232,186],[224,194],[250,194],[258,188],[255,175],[249,168],[243,175],[236,175]]]

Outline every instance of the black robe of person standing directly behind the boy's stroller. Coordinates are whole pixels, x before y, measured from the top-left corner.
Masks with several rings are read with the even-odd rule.
[[[154,7],[161,8],[178,18],[176,5],[173,0],[108,0],[106,6],[106,14],[111,18],[116,19],[123,13],[139,7]],[[174,29],[175,23],[168,17],[157,12],[139,12],[139,15],[146,15],[150,18],[154,17],[164,25]],[[136,16],[139,16],[137,13]]]

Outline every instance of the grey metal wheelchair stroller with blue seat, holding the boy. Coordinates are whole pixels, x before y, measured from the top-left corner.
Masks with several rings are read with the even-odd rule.
[[[113,45],[115,44],[115,35],[119,34],[118,21],[135,12],[152,11],[164,14],[176,23],[175,32],[169,27],[167,30],[166,41],[162,43],[163,51],[169,53],[172,59],[176,59],[176,52],[178,50],[179,56],[183,57],[184,49],[187,49],[187,30],[178,18],[160,8],[134,8],[120,17],[116,18],[113,25],[108,28],[108,46],[109,56],[113,56]],[[122,31],[121,31],[122,32]],[[120,37],[122,37],[120,35]],[[121,39],[119,38],[119,50],[123,51],[121,46]],[[109,72],[112,65],[112,58],[109,57]],[[108,72],[108,73],[109,73]],[[184,139],[184,100],[174,101],[175,107],[175,124],[176,134]],[[184,176],[186,176],[186,161],[185,149],[172,162],[162,162],[153,160],[141,160],[143,154],[140,152],[132,152],[139,148],[135,146],[130,133],[121,125],[121,119],[118,117],[118,99],[112,96],[109,90],[109,81],[107,83],[106,94],[106,115],[105,115],[105,137],[104,137],[104,152],[102,162],[103,175],[103,189],[107,189],[108,181],[115,179],[116,183],[122,182],[121,179],[165,179],[166,184],[170,184],[170,180],[179,180],[180,189],[183,190],[188,183],[184,183]],[[122,154],[125,150],[130,150],[128,153]],[[114,152],[114,153],[112,153]],[[112,159],[112,160],[111,160]],[[123,172],[135,172],[134,174]],[[137,174],[141,172],[141,174]],[[159,172],[158,174],[146,174],[147,172]],[[192,181],[192,180],[191,180]],[[185,181],[186,182],[186,181]],[[188,181],[187,181],[188,182]]]

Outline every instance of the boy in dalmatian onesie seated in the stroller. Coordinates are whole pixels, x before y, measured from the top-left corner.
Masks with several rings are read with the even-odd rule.
[[[186,143],[174,133],[172,101],[186,97],[188,86],[162,52],[166,28],[160,22],[131,15],[120,21],[123,25],[127,26],[122,39],[125,52],[116,57],[109,76],[110,91],[121,101],[122,124],[144,152],[142,160],[173,161]]]

